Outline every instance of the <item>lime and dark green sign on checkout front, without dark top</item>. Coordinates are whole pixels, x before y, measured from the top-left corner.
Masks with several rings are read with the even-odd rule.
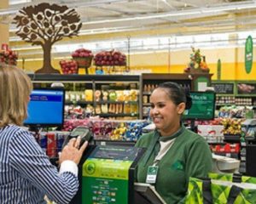
[[[128,203],[132,161],[87,159],[83,165],[83,204]]]

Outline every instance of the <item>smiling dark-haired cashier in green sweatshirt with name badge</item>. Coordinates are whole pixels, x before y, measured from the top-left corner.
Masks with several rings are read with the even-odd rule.
[[[147,148],[137,168],[137,182],[154,184],[168,204],[183,203],[189,177],[207,177],[212,154],[205,139],[181,123],[191,98],[174,82],[161,83],[150,96],[154,132],[144,134],[137,147]]]

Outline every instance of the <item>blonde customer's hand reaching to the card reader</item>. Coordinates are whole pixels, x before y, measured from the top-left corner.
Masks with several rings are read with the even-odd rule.
[[[80,137],[78,139],[70,139],[68,144],[63,148],[61,154],[59,154],[59,162],[61,164],[62,161],[71,160],[76,164],[79,164],[81,157],[83,156],[84,150],[87,147],[88,142],[85,141],[84,144],[80,146]]]

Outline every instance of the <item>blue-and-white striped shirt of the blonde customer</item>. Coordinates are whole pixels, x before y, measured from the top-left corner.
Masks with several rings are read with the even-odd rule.
[[[68,203],[79,188],[76,175],[58,173],[33,136],[9,125],[0,128],[0,203],[45,203],[44,195]]]

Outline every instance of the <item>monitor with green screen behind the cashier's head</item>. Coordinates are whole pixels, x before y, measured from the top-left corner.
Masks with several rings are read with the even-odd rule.
[[[215,112],[215,93],[190,92],[192,106],[184,111],[184,119],[212,120]]]

